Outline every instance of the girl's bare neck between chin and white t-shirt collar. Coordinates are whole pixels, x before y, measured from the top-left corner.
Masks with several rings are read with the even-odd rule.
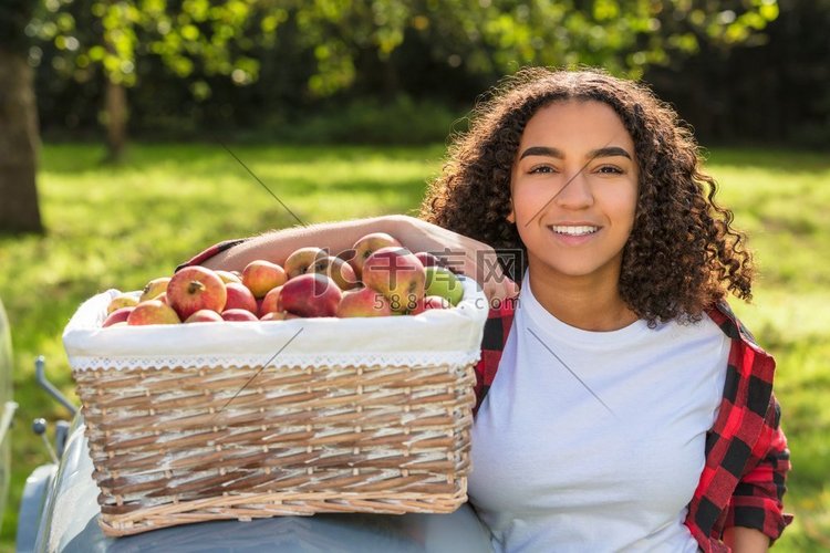
[[[618,279],[572,278],[529,270],[536,300],[558,320],[583,331],[624,328],[639,317],[620,296]]]

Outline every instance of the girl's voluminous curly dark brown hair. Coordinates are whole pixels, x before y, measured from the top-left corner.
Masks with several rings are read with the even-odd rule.
[[[702,169],[691,129],[644,85],[595,69],[526,67],[494,87],[474,108],[469,131],[454,137],[421,218],[497,251],[527,253],[516,226],[507,221],[511,168],[528,121],[541,107],[566,100],[609,105],[634,142],[639,198],[620,274],[629,307],[653,326],[697,321],[728,293],[751,300],[746,237],[732,227],[733,212],[715,202],[717,184]],[[523,272],[525,263],[513,275]]]

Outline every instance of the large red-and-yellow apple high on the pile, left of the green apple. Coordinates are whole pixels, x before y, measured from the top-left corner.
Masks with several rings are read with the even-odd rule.
[[[385,295],[392,311],[407,312],[424,298],[426,271],[406,248],[381,248],[363,264],[363,283]]]

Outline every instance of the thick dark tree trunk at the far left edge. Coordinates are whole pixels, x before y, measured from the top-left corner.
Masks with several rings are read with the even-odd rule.
[[[42,232],[38,108],[25,54],[0,48],[0,232]]]

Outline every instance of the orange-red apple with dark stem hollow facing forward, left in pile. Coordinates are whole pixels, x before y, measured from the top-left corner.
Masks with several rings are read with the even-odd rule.
[[[184,321],[199,310],[221,313],[228,292],[222,280],[210,269],[194,265],[178,271],[167,284],[167,303]]]

